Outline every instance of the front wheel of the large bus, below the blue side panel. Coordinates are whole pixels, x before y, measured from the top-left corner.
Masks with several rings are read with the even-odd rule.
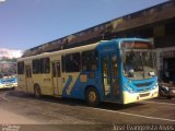
[[[89,87],[86,90],[85,96],[86,96],[86,102],[89,106],[96,107],[100,105],[100,95],[94,87]]]

